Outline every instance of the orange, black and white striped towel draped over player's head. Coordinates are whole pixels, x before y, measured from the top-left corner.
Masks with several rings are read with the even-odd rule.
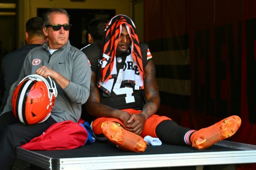
[[[144,71],[142,65],[142,56],[136,27],[133,21],[125,15],[114,16],[106,25],[105,37],[103,41],[103,55],[100,62],[99,80],[97,85],[103,91],[110,95],[113,87],[113,78],[117,77],[116,70],[116,48],[119,41],[120,33],[122,32],[122,24],[125,24],[126,29],[131,38],[131,53],[126,57],[127,61],[132,61],[139,69],[139,75],[128,73],[127,69],[123,74],[123,82],[130,83],[135,86],[136,90],[144,89]]]

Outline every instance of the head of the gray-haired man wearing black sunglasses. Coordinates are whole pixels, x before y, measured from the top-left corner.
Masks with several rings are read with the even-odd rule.
[[[49,9],[43,17],[43,31],[48,38],[50,49],[60,49],[69,38],[69,15],[65,9]]]

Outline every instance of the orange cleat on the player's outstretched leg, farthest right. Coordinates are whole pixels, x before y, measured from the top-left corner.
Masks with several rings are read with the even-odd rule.
[[[212,126],[200,129],[191,135],[192,146],[199,150],[206,149],[234,135],[240,125],[241,119],[237,115],[233,115]]]

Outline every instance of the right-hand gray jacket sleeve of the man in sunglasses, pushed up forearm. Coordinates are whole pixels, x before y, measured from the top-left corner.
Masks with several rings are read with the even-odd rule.
[[[72,80],[63,89],[72,102],[84,104],[90,94],[91,68],[84,53],[74,59]]]

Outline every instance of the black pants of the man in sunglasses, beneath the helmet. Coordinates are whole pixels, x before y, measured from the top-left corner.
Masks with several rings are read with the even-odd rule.
[[[40,136],[56,121],[49,117],[46,121],[33,125],[23,125],[16,120],[12,111],[0,116],[0,169],[12,168],[16,146],[29,142]]]

